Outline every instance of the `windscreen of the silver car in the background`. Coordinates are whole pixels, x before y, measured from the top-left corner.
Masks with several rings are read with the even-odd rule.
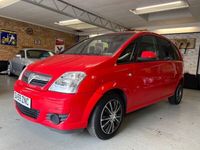
[[[45,50],[28,50],[27,51],[27,58],[31,59],[41,59],[52,56],[53,53]]]

